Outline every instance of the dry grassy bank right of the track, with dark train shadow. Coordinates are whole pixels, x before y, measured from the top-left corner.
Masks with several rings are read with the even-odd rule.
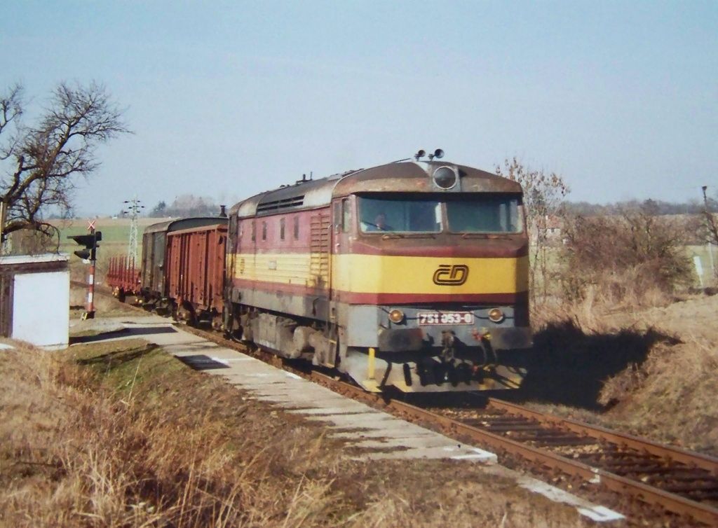
[[[658,293],[612,303],[541,306],[534,350],[546,374],[530,374],[537,407],[718,456],[718,298],[670,303]]]

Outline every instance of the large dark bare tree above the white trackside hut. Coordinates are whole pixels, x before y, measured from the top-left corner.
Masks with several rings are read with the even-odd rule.
[[[55,235],[43,213],[70,212],[76,176],[99,166],[97,146],[129,131],[122,110],[97,83],[57,85],[35,126],[22,123],[24,103],[21,85],[0,95],[0,232]]]

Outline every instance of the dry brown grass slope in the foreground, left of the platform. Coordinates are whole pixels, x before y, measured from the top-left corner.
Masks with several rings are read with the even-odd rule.
[[[472,464],[351,461],[145,341],[21,348],[0,376],[4,527],[584,525]]]

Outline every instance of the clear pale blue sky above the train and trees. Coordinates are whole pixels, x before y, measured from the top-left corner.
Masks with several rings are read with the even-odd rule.
[[[103,2],[3,7],[0,88],[96,80],[134,135],[79,214],[232,204],[441,147],[556,171],[569,198],[718,193],[718,1]]]

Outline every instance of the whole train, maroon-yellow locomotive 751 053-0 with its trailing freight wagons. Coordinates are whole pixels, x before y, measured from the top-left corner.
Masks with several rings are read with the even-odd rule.
[[[150,226],[139,273],[115,263],[108,283],[365,390],[518,387],[531,347],[521,186],[421,154],[303,178],[228,219]]]

